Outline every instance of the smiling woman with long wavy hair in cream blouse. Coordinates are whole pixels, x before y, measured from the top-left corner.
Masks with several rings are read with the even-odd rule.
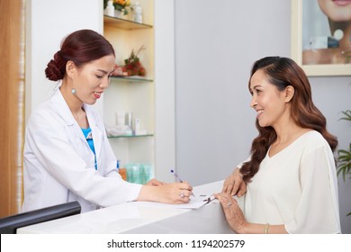
[[[340,233],[333,157],[338,140],[313,104],[302,68],[290,58],[261,58],[248,88],[259,134],[251,156],[216,195],[230,228],[237,233]],[[238,185],[238,196],[247,191],[237,201],[232,195]]]

